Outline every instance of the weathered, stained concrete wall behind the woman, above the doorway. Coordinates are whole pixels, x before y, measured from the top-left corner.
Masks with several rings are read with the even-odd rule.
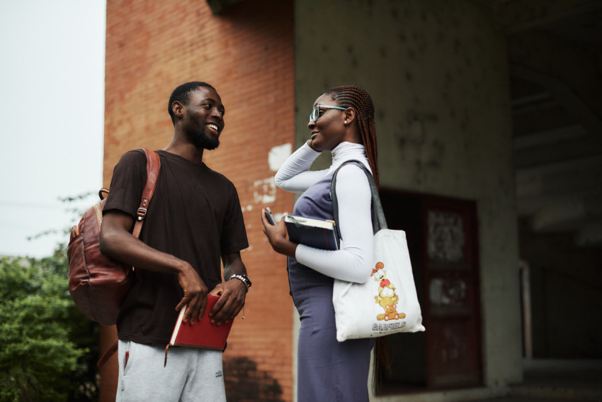
[[[373,97],[381,186],[477,202],[484,381],[520,381],[509,71],[491,11],[473,1],[297,1],[297,146],[314,100],[341,84]]]

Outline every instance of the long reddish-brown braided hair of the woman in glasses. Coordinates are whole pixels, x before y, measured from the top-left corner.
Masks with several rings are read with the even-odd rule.
[[[376,186],[378,187],[378,157],[376,128],[374,125],[374,105],[368,92],[355,85],[335,86],[324,92],[329,94],[343,108],[354,108],[360,128],[362,143]]]

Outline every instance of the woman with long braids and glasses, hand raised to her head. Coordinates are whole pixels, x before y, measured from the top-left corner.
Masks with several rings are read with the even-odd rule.
[[[276,173],[276,184],[302,193],[293,213],[334,219],[330,196],[334,170],[358,160],[378,184],[374,107],[358,86],[337,86],[316,99],[309,124],[311,139]],[[322,151],[331,151],[329,169],[310,171]],[[270,225],[262,211],[264,233],[273,249],[288,256],[288,277],[300,314],[297,400],[368,401],[368,371],[373,339],[336,341],[332,304],[334,279],[363,283],[370,277],[373,228],[370,186],[357,164],[346,164],[336,177],[341,248],[318,250],[290,242],[283,220]]]

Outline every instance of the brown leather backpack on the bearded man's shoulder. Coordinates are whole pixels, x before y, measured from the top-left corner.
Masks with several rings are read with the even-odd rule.
[[[144,149],[144,153],[147,155],[147,183],[132,230],[136,238],[140,236],[161,167],[156,152]],[[132,267],[103,255],[100,250],[102,211],[106,203],[103,194],[108,192],[107,189],[98,192],[101,201],[86,211],[79,224],[72,228],[67,248],[69,293],[79,310],[101,325],[115,325],[117,322],[121,303],[130,291],[132,272]]]

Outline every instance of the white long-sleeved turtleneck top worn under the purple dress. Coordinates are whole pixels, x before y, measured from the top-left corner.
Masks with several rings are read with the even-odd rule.
[[[332,164],[328,169],[309,170],[319,155],[320,152],[305,143],[278,169],[276,185],[287,191],[302,193],[347,160],[359,160],[371,172],[364,147],[360,144],[339,144],[332,150]],[[373,268],[370,266],[373,258],[370,184],[362,169],[348,164],[336,176],[335,191],[339,203],[341,249],[319,250],[298,245],[295,259],[334,279],[363,283]]]

